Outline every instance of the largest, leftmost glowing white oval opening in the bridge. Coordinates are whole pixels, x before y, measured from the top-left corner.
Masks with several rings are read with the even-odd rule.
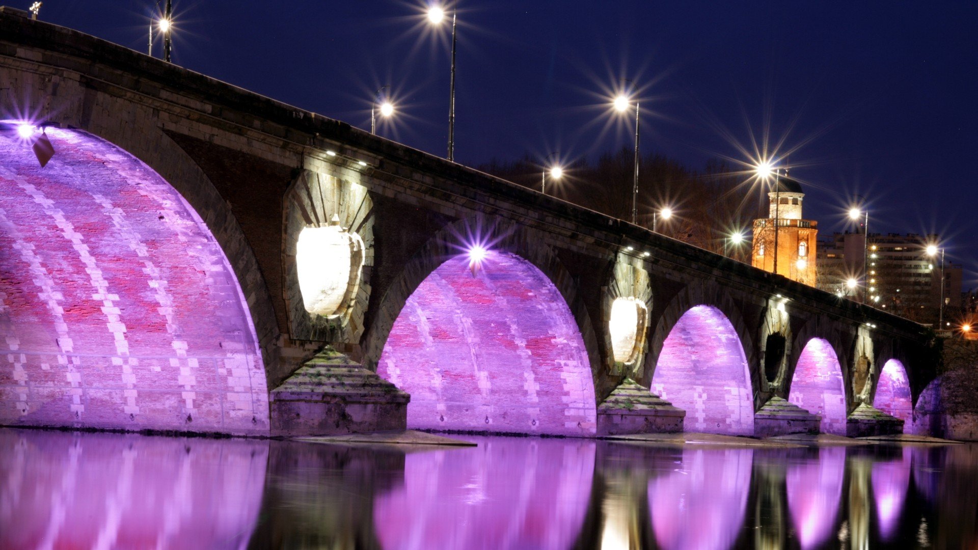
[[[295,269],[306,311],[335,315],[356,286],[360,239],[338,224],[305,227],[295,244]]]

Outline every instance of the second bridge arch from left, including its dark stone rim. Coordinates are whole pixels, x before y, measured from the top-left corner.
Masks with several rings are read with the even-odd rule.
[[[478,261],[475,245],[485,252]],[[533,230],[482,216],[450,224],[380,309],[366,362],[412,394],[409,427],[594,434],[595,333]]]

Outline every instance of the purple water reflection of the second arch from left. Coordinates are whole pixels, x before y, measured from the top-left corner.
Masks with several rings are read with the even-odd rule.
[[[569,548],[591,497],[594,441],[480,438],[409,454],[403,487],[374,506],[395,548]]]

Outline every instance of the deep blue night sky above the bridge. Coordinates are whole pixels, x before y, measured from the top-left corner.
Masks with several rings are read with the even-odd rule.
[[[749,161],[767,135],[822,234],[851,228],[845,210],[863,195],[870,232],[940,233],[965,289],[978,286],[978,2],[457,6],[456,160],[568,162],[631,147],[632,121],[607,107],[628,78],[643,151],[698,169]],[[145,52],[155,10],[45,0],[40,19]],[[378,133],[443,157],[450,27],[432,29],[423,12],[411,1],[182,0],[173,61],[365,129],[389,84],[398,113]]]

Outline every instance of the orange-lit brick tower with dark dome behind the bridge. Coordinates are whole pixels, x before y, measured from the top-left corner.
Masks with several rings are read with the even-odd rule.
[[[801,217],[801,185],[786,175],[775,176],[768,198],[768,217],[754,220],[751,264],[773,273],[777,264],[778,275],[814,287],[819,224]]]

